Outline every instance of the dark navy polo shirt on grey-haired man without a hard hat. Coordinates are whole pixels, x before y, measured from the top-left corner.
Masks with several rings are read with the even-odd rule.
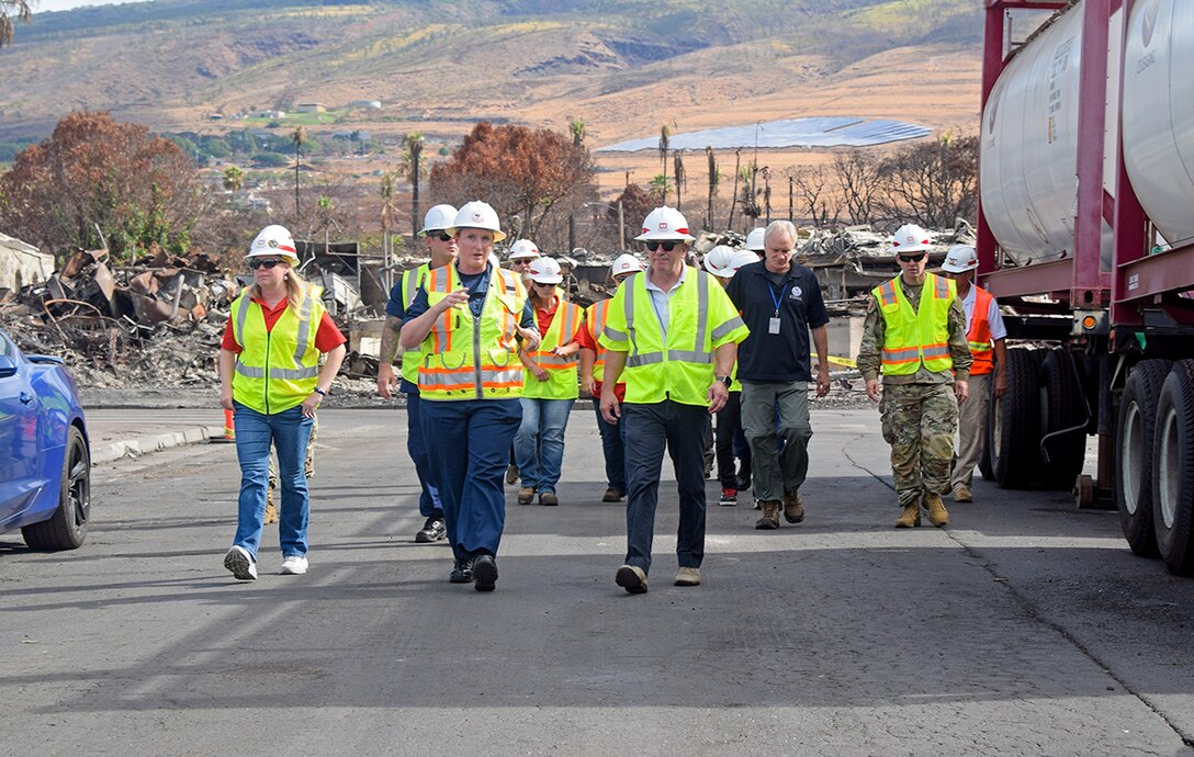
[[[739,381],[812,381],[810,328],[829,322],[817,276],[795,263],[773,273],[763,261],[738,269],[726,294],[750,336],[738,345]],[[780,333],[769,325],[780,310]]]

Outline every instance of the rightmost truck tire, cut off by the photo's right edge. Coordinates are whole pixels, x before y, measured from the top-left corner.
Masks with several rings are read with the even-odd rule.
[[[1170,573],[1194,573],[1194,359],[1161,387],[1152,442],[1152,524]]]

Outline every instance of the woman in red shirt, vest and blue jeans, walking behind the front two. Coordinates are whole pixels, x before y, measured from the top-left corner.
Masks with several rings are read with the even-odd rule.
[[[564,463],[564,431],[579,396],[577,334],[584,310],[556,294],[564,277],[554,259],[535,258],[528,276],[530,304],[543,341],[537,350],[522,352],[523,419],[515,435],[515,461],[522,475],[518,504],[529,505],[537,492],[538,504],[558,505],[555,485]]]

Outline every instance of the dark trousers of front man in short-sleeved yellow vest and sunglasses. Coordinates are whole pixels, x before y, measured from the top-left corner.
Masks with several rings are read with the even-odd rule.
[[[626,562],[651,571],[651,543],[659,504],[664,449],[676,469],[679,530],[676,556],[681,567],[701,567],[704,559],[704,448],[702,430],[708,410],[664,400],[622,405],[626,423]]]

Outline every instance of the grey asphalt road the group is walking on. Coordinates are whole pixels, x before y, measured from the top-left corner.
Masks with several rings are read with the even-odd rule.
[[[874,411],[814,413],[800,525],[709,484],[700,587],[614,584],[591,411],[561,506],[510,503],[493,593],[447,581],[400,411],[325,411],[310,572],[238,583],[232,447],[94,472],[82,549],[0,536],[0,752],[13,755],[1194,753],[1194,580],[1110,512],[978,481],[948,529],[892,528]],[[665,476],[670,476],[665,464]]]

